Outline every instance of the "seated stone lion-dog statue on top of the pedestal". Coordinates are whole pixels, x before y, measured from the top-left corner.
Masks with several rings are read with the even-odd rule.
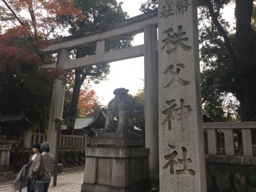
[[[134,132],[134,122],[131,118],[131,111],[129,110],[129,90],[125,88],[118,88],[113,93],[115,98],[108,104],[108,113],[106,116],[106,124],[102,131],[105,132]],[[118,128],[113,128],[112,122],[114,118],[118,119]]]

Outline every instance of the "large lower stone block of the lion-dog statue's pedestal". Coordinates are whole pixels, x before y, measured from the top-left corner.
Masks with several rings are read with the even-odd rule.
[[[148,148],[86,148],[82,191],[149,190],[148,156]]]

